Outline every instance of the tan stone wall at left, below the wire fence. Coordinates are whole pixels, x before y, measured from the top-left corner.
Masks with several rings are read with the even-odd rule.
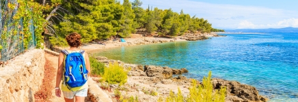
[[[34,101],[44,78],[44,50],[28,50],[0,67],[0,101]]]

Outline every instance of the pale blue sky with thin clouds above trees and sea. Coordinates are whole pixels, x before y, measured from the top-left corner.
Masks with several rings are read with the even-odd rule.
[[[134,0],[130,0],[134,1]],[[140,0],[142,7],[172,8],[204,18],[217,29],[298,27],[298,1],[294,0]]]

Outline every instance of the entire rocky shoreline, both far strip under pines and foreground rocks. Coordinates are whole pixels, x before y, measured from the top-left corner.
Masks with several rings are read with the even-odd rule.
[[[81,49],[86,50],[89,53],[96,52],[100,49],[115,48],[120,46],[135,46],[143,44],[154,44],[154,43],[165,43],[169,41],[195,41],[209,39],[210,37],[221,37],[215,33],[210,34],[185,34],[183,36],[165,38],[165,37],[131,37],[126,38],[126,42],[120,41],[103,41],[105,45],[101,44],[87,44],[82,46]],[[55,48],[56,52],[66,48]],[[105,56],[97,56],[96,59],[99,62],[105,63],[106,65],[115,60],[109,60]],[[189,94],[189,86],[191,86],[191,79],[183,76],[182,73],[187,73],[187,69],[172,69],[170,67],[158,67],[153,65],[134,65],[123,63],[122,61],[117,61],[124,68],[131,67],[128,71],[128,80],[123,86],[109,85],[110,90],[104,90],[107,95],[113,101],[117,101],[117,98],[113,90],[120,90],[124,97],[135,96],[138,97],[140,101],[157,101],[159,97],[167,97],[170,94],[170,90],[174,93],[178,92],[178,88],[182,91],[182,95],[187,97]],[[175,77],[174,77],[175,75]],[[92,80],[97,81],[100,88],[106,85],[100,83],[100,78],[92,78]],[[218,89],[221,86],[226,86],[226,101],[227,102],[252,102],[252,101],[268,101],[267,98],[258,95],[258,90],[254,86],[249,86],[246,84],[241,84],[235,81],[228,81],[213,78],[213,88]],[[202,82],[200,82],[202,84]],[[150,95],[152,92],[157,92],[157,95]]]

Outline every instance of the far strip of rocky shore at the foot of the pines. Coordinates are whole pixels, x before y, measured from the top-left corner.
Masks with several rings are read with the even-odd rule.
[[[98,44],[96,41],[92,41],[87,44],[83,44],[81,49],[86,50],[88,52],[96,52],[100,49],[107,49],[107,48],[116,48],[120,46],[137,46],[137,45],[144,45],[144,44],[159,44],[159,43],[166,43],[171,41],[197,41],[197,40],[204,40],[204,39],[211,39],[211,37],[221,37],[222,35],[217,35],[216,33],[186,33],[182,36],[177,37],[143,37],[139,34],[131,34],[131,37],[124,38],[125,42],[120,42],[119,40],[102,40],[100,41],[101,44]],[[46,48],[49,48],[55,52],[60,52],[63,49],[68,47],[57,47],[51,46],[48,38],[44,39]]]

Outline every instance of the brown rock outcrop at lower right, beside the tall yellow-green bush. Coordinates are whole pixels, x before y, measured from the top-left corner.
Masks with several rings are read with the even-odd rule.
[[[213,88],[220,89],[221,86],[227,88],[226,101],[242,102],[242,101],[267,101],[265,97],[258,94],[255,87],[241,84],[236,81],[228,81],[214,78],[212,80]]]

